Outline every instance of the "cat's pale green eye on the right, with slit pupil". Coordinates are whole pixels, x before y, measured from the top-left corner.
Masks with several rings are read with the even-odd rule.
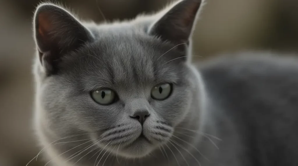
[[[156,100],[164,100],[171,95],[172,84],[159,84],[152,88],[151,97]]]

